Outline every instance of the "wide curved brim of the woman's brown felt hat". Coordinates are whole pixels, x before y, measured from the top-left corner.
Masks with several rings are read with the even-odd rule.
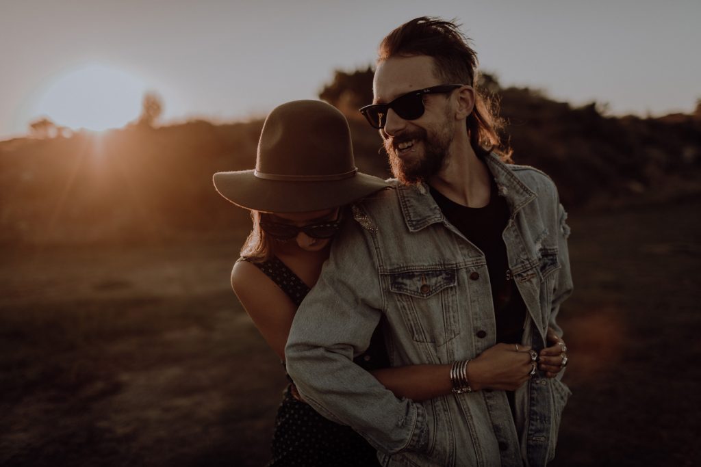
[[[343,206],[390,186],[376,176],[361,172],[348,179],[304,182],[259,179],[253,172],[217,172],[212,179],[219,194],[233,204],[245,209],[280,213]]]

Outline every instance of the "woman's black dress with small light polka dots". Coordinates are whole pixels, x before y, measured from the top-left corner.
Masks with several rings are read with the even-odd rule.
[[[277,257],[252,264],[270,277],[297,306],[309,292],[304,281]],[[366,354],[355,359],[356,363],[366,369],[389,366],[381,333],[373,335],[370,347]],[[287,386],[278,407],[273,455],[268,467],[379,466],[375,449],[362,436],[349,426],[322,417],[310,405],[294,398],[294,392],[293,384]]]

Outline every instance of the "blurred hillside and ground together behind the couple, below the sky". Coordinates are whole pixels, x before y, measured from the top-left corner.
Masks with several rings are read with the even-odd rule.
[[[355,110],[372,71],[320,97],[348,115],[359,168],[389,176]],[[573,390],[552,465],[697,465],[701,102],[610,116],[529,88],[501,104],[519,164],[569,210],[562,309]],[[285,386],[229,286],[247,211],[214,172],[254,166],[262,120],[159,126],[147,95],[120,130],[48,119],[0,142],[0,463],[259,466]]]

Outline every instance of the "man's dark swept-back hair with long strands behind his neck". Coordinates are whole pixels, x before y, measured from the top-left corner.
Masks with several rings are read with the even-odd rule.
[[[470,39],[460,32],[454,22],[422,16],[397,27],[380,43],[377,62],[390,57],[428,55],[435,60],[435,75],[442,84],[477,84],[477,53]],[[498,116],[493,98],[475,88],[475,108],[468,116],[467,127],[472,149],[479,155],[494,151],[505,162],[511,162],[510,148],[503,145],[498,132],[504,121]]]

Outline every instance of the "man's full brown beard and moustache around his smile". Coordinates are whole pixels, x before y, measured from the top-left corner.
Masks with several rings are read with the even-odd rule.
[[[430,135],[423,128],[417,128],[384,141],[385,151],[389,155],[390,168],[397,180],[410,185],[427,181],[431,176],[437,174],[443,167],[443,161],[453,141],[453,134],[449,132],[449,127],[446,126],[444,128],[443,132]],[[407,157],[402,158],[400,155],[397,155],[397,145],[412,139],[415,141],[415,146],[419,142],[423,142],[423,157],[416,158],[414,155],[409,154]],[[416,151],[416,149],[413,149],[413,151]]]

